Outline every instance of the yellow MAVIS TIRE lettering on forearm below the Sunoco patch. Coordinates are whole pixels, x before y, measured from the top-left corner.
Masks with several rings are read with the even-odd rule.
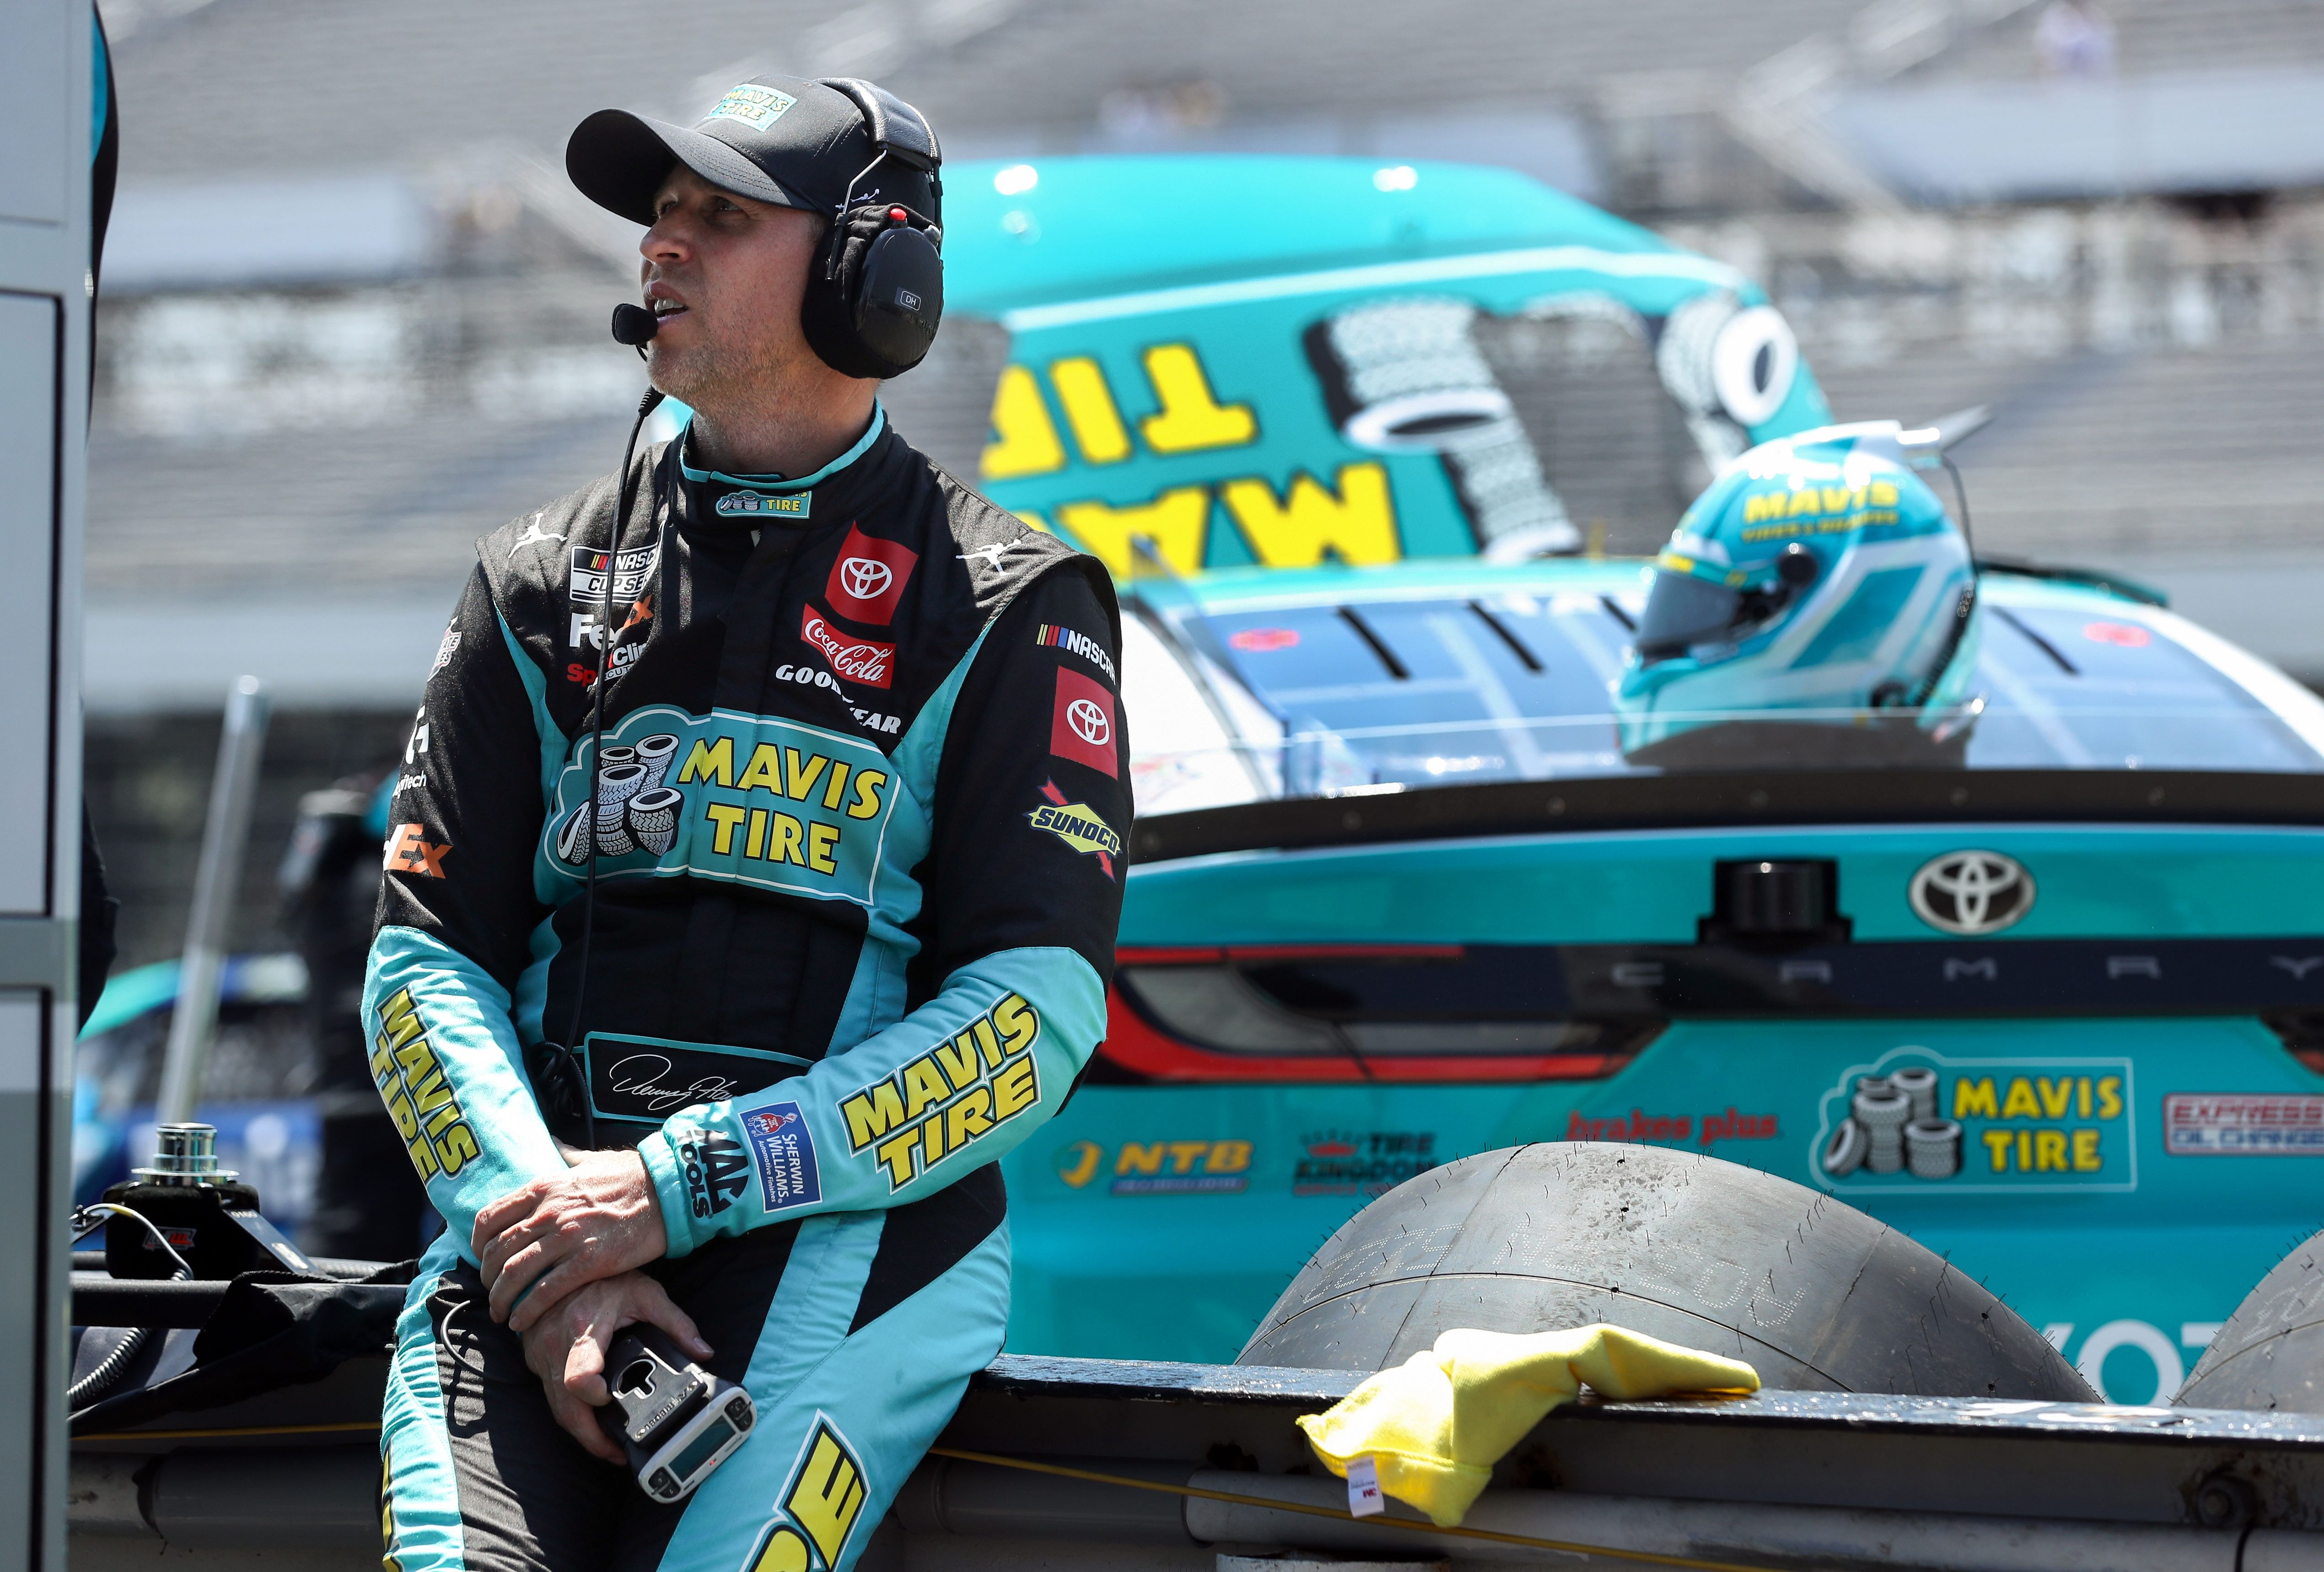
[[[1041,1012],[1011,993],[967,1030],[846,1098],[839,1116],[848,1151],[871,1151],[888,1170],[888,1191],[902,1191],[1041,1100],[1032,1058],[1039,1037]]]

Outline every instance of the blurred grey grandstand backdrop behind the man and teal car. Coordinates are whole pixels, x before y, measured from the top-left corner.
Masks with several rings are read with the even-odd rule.
[[[690,123],[758,72],[853,74],[920,105],[948,160],[1522,170],[1757,277],[1841,419],[1996,405],[1961,460],[1980,551],[2147,579],[2324,681],[2324,7],[2301,0],[114,0],[105,16],[123,142],[91,440],[88,802],[123,900],[121,977],[184,942],[228,684],[272,686],[230,937],[260,960],[230,979],[211,1093],[284,1121],[242,1160],[284,1153],[267,1200],[290,1221],[311,1207],[297,1153],[316,1091],[284,960],[304,921],[284,921],[281,886],[300,802],[293,884],[316,826],[353,821],[400,758],[474,537],[607,472],[641,388],[604,335],[637,230],[562,174],[565,135],[607,105]],[[999,328],[948,321],[888,393],[899,428],[974,477],[1004,356]],[[1669,523],[1604,540],[1643,551]],[[358,863],[356,884],[376,881],[376,851]],[[328,898],[367,907],[367,888]],[[132,1002],[100,1030],[158,1030]]]

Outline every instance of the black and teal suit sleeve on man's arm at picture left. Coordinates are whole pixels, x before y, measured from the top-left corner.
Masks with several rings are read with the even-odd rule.
[[[479,567],[404,746],[363,979],[372,1081],[462,1258],[476,1212],[567,1170],[511,1019],[548,914],[532,888],[544,807],[530,670]]]

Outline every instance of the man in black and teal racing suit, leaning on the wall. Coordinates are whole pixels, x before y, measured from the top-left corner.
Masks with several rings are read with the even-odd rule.
[[[1118,612],[830,363],[827,263],[939,216],[934,137],[883,153],[867,105],[918,126],[765,77],[567,147],[651,223],[693,423],[479,544],[397,777],[365,1026],[446,1219],[388,1386],[400,1572],[846,1572],[999,1351],[992,1160],[1104,1035]],[[758,1402],[676,1507],[597,1428],[639,1321]]]

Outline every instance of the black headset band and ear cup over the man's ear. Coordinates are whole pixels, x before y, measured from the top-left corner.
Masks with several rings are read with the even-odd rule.
[[[823,77],[820,86],[855,100],[871,163],[839,198],[823,256],[806,274],[799,326],[832,370],[897,377],[927,356],[944,316],[944,151],[927,119],[895,93],[858,77]],[[888,160],[906,170],[906,186],[925,179],[930,212],[885,200],[878,186],[858,198],[865,177]]]

